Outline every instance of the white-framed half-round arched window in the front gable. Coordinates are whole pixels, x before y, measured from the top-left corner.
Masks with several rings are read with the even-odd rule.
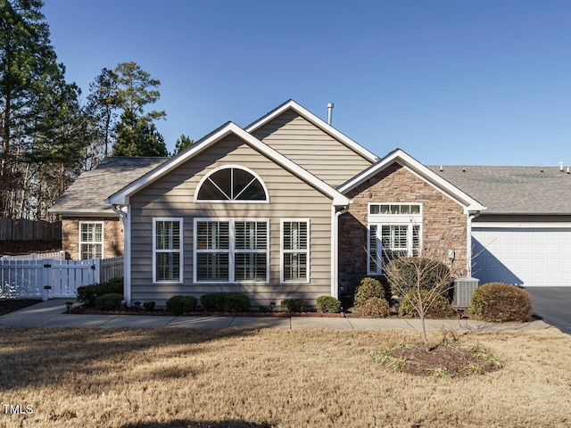
[[[268,192],[252,171],[229,166],[215,169],[203,178],[196,201],[268,201]]]

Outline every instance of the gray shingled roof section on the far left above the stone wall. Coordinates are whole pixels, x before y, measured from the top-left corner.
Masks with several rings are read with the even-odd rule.
[[[116,216],[107,197],[137,180],[168,158],[106,158],[95,169],[81,174],[50,208],[64,216]]]

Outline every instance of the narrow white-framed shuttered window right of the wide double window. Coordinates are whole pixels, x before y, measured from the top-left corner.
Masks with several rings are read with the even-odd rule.
[[[281,282],[310,281],[310,220],[281,221]]]

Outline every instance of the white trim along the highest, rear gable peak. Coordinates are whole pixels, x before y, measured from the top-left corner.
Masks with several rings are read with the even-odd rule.
[[[365,147],[363,147],[359,143],[353,141],[348,136],[345,136],[343,133],[341,133],[337,129],[333,128],[325,120],[319,118],[318,116],[313,114],[311,111],[302,107],[300,104],[295,103],[294,100],[289,100],[289,101],[283,103],[282,105],[280,105],[279,107],[277,107],[277,109],[275,109],[274,111],[270,111],[266,116],[262,117],[261,119],[256,120],[251,125],[248,125],[248,127],[245,128],[245,131],[249,134],[252,134],[252,132],[254,132],[256,129],[261,128],[266,123],[268,123],[270,120],[277,118],[277,116],[279,116],[280,114],[282,114],[284,111],[286,111],[288,109],[294,110],[300,116],[302,116],[304,119],[309,120],[313,125],[320,128],[322,131],[326,132],[330,136],[334,136],[341,143],[345,144],[347,147],[352,149],[353,152],[359,153],[363,158],[367,159],[368,161],[377,162],[379,160],[378,156],[375,153],[369,152]]]

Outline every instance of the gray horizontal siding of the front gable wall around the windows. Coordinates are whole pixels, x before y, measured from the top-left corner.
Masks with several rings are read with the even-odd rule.
[[[268,188],[269,203],[194,203],[194,191],[212,169],[239,165]],[[273,161],[228,136],[194,156],[131,201],[132,300],[163,306],[170,296],[245,292],[252,305],[283,299],[315,299],[331,293],[331,199]],[[153,284],[153,218],[183,218],[184,284]],[[269,218],[269,284],[193,284],[194,218]],[[310,283],[280,284],[280,219],[310,218]]]

